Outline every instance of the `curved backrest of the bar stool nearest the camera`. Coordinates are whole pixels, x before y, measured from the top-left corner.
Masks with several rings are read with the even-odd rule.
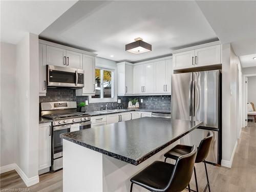
[[[170,181],[164,191],[182,191],[189,184],[197,156],[197,146],[193,145],[189,154],[176,161]]]

